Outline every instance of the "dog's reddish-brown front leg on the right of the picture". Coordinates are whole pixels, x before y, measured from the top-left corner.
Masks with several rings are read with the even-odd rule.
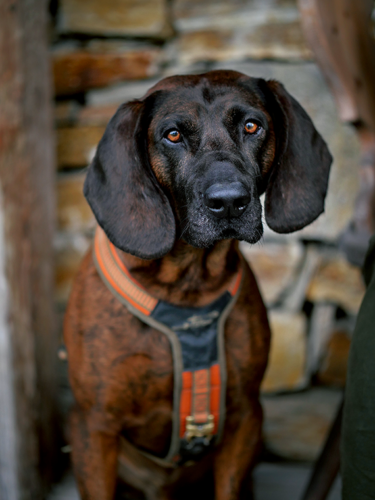
[[[224,432],[215,457],[215,500],[251,500],[251,469],[260,452],[262,410],[254,401],[235,426]]]

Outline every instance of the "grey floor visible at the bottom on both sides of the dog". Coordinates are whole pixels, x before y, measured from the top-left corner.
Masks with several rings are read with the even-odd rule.
[[[287,463],[262,463],[254,471],[256,500],[299,500],[307,484],[311,468]],[[327,500],[341,499],[338,479]],[[79,500],[71,474],[56,485],[48,500]]]

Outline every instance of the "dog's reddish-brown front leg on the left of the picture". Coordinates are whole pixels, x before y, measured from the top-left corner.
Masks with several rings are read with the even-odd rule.
[[[118,437],[95,416],[76,407],[71,417],[74,474],[82,500],[113,500],[117,482]]]

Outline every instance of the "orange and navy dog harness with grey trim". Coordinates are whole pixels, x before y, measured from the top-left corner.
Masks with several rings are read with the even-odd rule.
[[[171,445],[164,459],[147,456],[170,465],[180,459],[182,444],[189,447],[196,438],[211,440],[213,436],[218,442],[225,419],[224,324],[239,293],[242,266],[228,291],[214,303],[204,308],[181,308],[147,293],[100,227],[95,234],[94,262],[116,298],[170,341],[174,367]],[[202,356],[205,359],[200,359]]]

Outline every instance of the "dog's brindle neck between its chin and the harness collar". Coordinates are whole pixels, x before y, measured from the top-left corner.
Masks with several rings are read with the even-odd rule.
[[[119,251],[130,274],[148,293],[175,305],[196,307],[213,302],[238,270],[238,241],[223,240],[209,249],[178,240],[160,259],[144,260]]]

